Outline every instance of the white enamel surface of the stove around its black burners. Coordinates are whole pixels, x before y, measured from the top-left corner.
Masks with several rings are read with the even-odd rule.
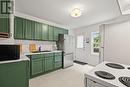
[[[91,79],[93,81],[96,81],[108,87],[126,87],[118,80],[118,78],[122,76],[130,77],[130,70],[127,69],[127,67],[129,66],[121,64],[125,67],[125,69],[114,69],[114,68],[106,66],[105,65],[106,63],[111,63],[111,62],[104,61],[103,63],[97,65],[93,70],[85,73],[85,78]],[[119,63],[116,63],[116,64],[119,64]],[[113,74],[116,78],[114,80],[102,79],[95,75],[95,71],[106,71],[108,73]]]

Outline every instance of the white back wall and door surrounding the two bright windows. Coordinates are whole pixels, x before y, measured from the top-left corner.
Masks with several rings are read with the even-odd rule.
[[[99,25],[91,25],[88,27],[80,28],[80,29],[75,29],[75,40],[78,35],[83,35],[84,36],[84,41],[86,41],[86,38],[89,38],[90,43],[84,43],[84,49],[79,50],[75,46],[75,55],[76,55],[76,60],[81,61],[81,62],[86,62],[90,65],[97,65],[99,63],[99,55],[93,55],[91,54],[91,32],[97,32],[99,31]]]

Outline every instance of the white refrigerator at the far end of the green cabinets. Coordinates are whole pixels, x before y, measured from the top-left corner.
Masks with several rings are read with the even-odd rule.
[[[59,34],[57,41],[58,50],[63,51],[63,68],[73,66],[74,39],[71,35]]]

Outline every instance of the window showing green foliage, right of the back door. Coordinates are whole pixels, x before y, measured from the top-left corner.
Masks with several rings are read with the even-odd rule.
[[[99,46],[100,46],[100,37],[99,32],[91,33],[91,53],[99,54]]]

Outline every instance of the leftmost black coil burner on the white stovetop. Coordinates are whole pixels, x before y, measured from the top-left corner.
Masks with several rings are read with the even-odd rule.
[[[105,71],[96,71],[95,74],[103,79],[109,79],[109,80],[115,79],[115,76]]]

